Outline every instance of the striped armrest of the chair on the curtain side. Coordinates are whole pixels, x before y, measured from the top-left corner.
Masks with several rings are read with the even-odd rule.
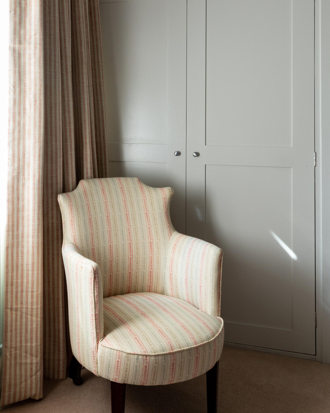
[[[62,247],[68,290],[71,347],[75,358],[98,375],[97,348],[103,337],[103,292],[99,266],[72,244]]]

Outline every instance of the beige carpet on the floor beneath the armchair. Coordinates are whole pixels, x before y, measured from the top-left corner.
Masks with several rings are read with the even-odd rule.
[[[330,413],[330,365],[225,347],[219,413]],[[110,382],[82,370],[84,383],[45,380],[44,397],[4,413],[110,413]],[[206,413],[206,377],[168,386],[126,388],[125,413]]]

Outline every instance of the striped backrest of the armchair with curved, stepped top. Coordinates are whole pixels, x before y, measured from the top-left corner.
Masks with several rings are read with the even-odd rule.
[[[59,195],[63,244],[99,265],[103,297],[163,292],[172,196],[138,178],[85,179]]]

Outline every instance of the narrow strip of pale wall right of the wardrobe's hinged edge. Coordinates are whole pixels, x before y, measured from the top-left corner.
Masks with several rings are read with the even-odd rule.
[[[330,363],[330,1],[315,2],[317,360]]]

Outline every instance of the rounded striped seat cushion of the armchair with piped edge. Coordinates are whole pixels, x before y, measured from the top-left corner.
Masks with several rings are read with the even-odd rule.
[[[192,379],[219,360],[223,320],[181,299],[132,293],[103,300],[104,338],[99,375],[134,385]]]

